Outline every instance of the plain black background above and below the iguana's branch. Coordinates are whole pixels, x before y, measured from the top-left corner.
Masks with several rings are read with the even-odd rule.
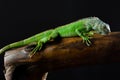
[[[0,47],[80,18],[96,16],[120,31],[117,0],[0,0]],[[104,46],[104,45],[103,45]],[[4,78],[0,56],[0,80]],[[48,80],[120,80],[120,64],[50,72]]]

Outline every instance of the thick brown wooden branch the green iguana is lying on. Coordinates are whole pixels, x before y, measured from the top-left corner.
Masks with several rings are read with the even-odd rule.
[[[95,35],[91,41],[91,46],[86,46],[79,37],[51,41],[32,58],[29,57],[30,47],[7,51],[4,57],[6,80],[16,76],[13,71],[20,65],[25,67],[24,75],[19,75],[22,80],[40,80],[47,71],[120,62],[120,32],[106,36]]]

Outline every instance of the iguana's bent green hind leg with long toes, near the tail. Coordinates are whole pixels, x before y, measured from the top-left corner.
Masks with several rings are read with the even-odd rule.
[[[32,57],[38,50],[41,50],[44,43],[50,41],[51,39],[55,39],[58,36],[58,32],[53,30],[49,35],[43,37],[37,42],[36,47],[30,53],[30,57]]]

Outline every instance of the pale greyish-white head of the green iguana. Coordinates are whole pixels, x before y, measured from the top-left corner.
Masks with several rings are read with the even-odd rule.
[[[93,30],[101,35],[106,35],[111,32],[110,26],[97,17],[94,17],[94,20],[92,21],[92,26]]]

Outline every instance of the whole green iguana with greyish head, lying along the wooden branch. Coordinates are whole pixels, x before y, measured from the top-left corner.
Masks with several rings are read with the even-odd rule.
[[[80,36],[83,39],[83,42],[89,46],[91,44],[90,37],[93,35],[93,33],[107,35],[109,32],[109,25],[101,21],[99,18],[83,18],[70,24],[59,26],[55,29],[46,30],[27,39],[6,45],[0,49],[0,54],[11,48],[21,47],[36,42],[36,47],[30,53],[32,56],[37,50],[42,48],[43,44],[50,41],[51,39],[55,39],[58,37],[58,35],[60,37]]]

